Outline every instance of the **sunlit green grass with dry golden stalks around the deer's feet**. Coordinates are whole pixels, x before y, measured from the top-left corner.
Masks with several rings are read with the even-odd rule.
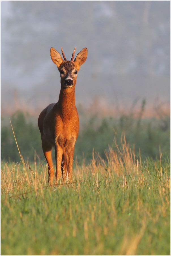
[[[170,255],[170,163],[125,139],[50,186],[47,165],[1,163],[1,255]]]

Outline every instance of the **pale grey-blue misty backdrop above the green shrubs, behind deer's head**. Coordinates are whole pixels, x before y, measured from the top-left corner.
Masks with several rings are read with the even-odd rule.
[[[76,104],[129,108],[170,101],[170,1],[1,1],[1,114],[57,102],[50,48],[88,57]],[[141,100],[140,100],[141,101]]]

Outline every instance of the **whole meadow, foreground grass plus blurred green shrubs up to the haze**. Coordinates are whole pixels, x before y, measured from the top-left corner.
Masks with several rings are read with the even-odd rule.
[[[1,255],[170,255],[170,114],[78,107],[73,181],[48,184],[37,118],[1,127]]]

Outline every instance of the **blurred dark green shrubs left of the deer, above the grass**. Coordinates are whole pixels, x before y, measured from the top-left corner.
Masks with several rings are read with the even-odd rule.
[[[34,161],[36,152],[43,159],[38,125],[33,125],[33,122],[27,119],[29,116],[20,111],[15,112],[10,118],[19,149],[25,160],[29,158],[29,161]],[[10,124],[1,128],[1,159],[16,162],[21,160]]]

